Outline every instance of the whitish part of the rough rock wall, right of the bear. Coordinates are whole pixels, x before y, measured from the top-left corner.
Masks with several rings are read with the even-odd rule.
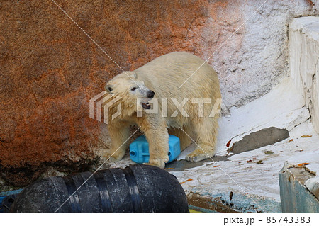
[[[206,19],[201,40],[193,43],[194,51],[201,52],[203,59],[215,52],[209,63],[218,72],[228,108],[267,94],[289,75],[289,23],[293,18],[319,13],[319,1],[313,1],[314,5],[306,0],[209,2],[209,14],[219,13]],[[220,6],[215,7],[218,2]],[[191,29],[198,29],[196,26]]]

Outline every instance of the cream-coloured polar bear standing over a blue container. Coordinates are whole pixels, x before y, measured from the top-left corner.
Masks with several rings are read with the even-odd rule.
[[[120,98],[121,104],[121,113],[108,123],[111,149],[105,153],[106,159],[123,158],[130,125],[138,125],[144,132],[150,165],[164,168],[169,159],[169,134],[179,137],[181,150],[196,142],[197,148],[186,156],[189,162],[215,154],[220,86],[214,69],[201,58],[171,52],[133,72],[118,74],[105,89],[113,98]],[[117,111],[118,105],[112,107],[109,111]]]

